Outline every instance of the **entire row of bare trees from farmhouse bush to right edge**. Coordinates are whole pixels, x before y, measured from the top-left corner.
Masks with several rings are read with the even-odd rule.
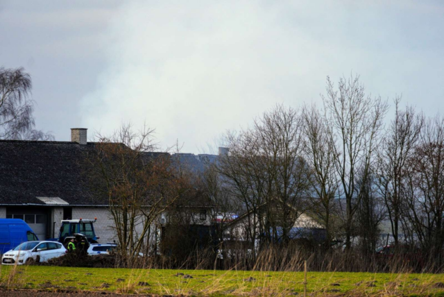
[[[92,175],[99,172],[101,178],[95,180],[105,180],[96,188],[110,197],[121,244],[133,255],[143,250],[164,257],[157,250],[161,245],[152,244],[161,235],[151,226],[165,219],[183,235],[199,220],[196,210],[208,207],[207,235],[216,247],[205,259],[213,264],[233,262],[241,250],[239,262],[257,263],[264,248],[295,248],[302,242],[294,234],[295,226],[304,229],[302,220],[308,222],[307,230],[325,229],[322,241],[311,242],[308,249],[302,242],[310,251],[306,257],[340,252],[364,261],[359,262],[364,267],[375,263],[378,246],[393,241],[398,255],[420,255],[427,262],[422,266],[441,269],[443,119],[402,107],[400,97],[393,99],[394,114],[388,114],[389,102],[368,95],[359,76],[336,84],[327,78],[321,96],[321,106],[277,105],[248,128],[226,133],[228,151],[207,162],[203,172],[182,166],[169,154],[150,153],[151,130],[135,135],[127,127],[114,138],[102,137],[99,153],[89,160],[100,169]],[[115,142],[126,146],[108,145]],[[105,166],[105,159],[115,164]],[[248,216],[234,224],[232,214]],[[390,225],[389,240],[382,236],[384,221]],[[141,223],[142,234],[135,228]],[[180,252],[175,262],[180,266],[198,247],[171,241],[168,256]],[[330,263],[333,259],[339,258]],[[346,257],[341,259],[347,266]],[[316,263],[323,269],[325,261]]]

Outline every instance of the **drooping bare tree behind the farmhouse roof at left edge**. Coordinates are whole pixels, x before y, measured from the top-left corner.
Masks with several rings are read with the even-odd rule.
[[[23,68],[0,67],[0,139],[53,140],[35,130],[31,76]]]

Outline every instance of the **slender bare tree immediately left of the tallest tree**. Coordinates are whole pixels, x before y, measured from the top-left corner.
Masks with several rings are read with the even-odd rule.
[[[330,247],[335,229],[332,222],[334,198],[338,196],[339,187],[334,169],[334,148],[327,133],[325,118],[316,106],[304,109],[302,126],[305,133],[305,158],[313,169],[313,211],[325,226],[325,246]]]

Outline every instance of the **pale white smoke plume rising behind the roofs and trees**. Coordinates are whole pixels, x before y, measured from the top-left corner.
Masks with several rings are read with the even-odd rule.
[[[379,8],[335,3],[126,1],[106,33],[108,68],[81,101],[83,125],[146,123],[163,146],[196,152],[276,103],[319,101],[325,76],[391,60],[390,26],[369,26]]]

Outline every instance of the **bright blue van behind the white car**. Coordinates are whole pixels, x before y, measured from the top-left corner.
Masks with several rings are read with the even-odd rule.
[[[15,248],[24,241],[39,240],[22,219],[0,219],[0,254]]]

